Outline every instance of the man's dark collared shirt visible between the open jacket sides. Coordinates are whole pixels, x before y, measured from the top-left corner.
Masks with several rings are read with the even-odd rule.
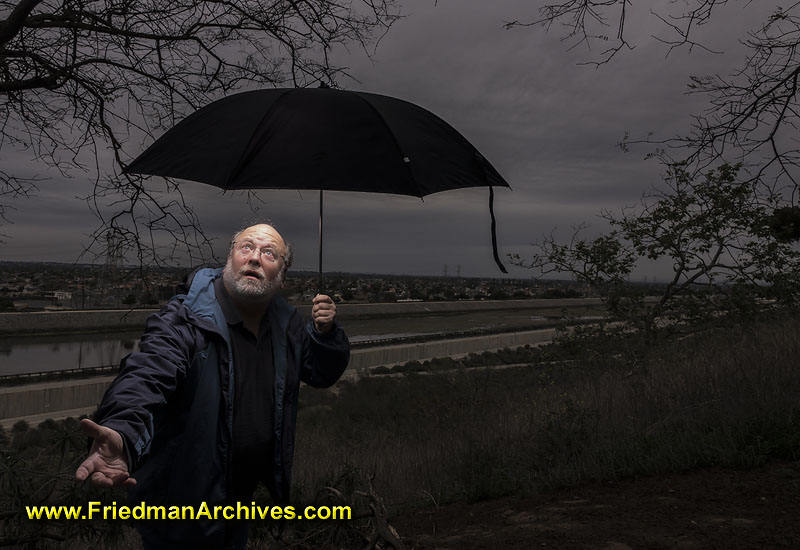
[[[267,316],[258,334],[244,326],[222,279],[214,292],[228,323],[233,352],[233,497],[248,502],[271,475],[275,369]]]

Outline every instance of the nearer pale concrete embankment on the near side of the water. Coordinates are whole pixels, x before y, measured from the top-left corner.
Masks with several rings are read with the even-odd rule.
[[[396,365],[434,357],[459,357],[469,353],[549,341],[555,329],[539,329],[469,338],[455,338],[353,350],[348,376],[370,368]],[[44,382],[0,388],[0,425],[13,426],[19,420],[38,423],[47,418],[64,418],[91,413],[100,402],[113,376],[88,380]]]

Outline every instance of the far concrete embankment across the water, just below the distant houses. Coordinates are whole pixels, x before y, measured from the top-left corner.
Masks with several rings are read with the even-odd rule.
[[[476,311],[535,310],[600,305],[602,303],[599,298],[339,304],[337,315],[340,319],[369,319],[386,316],[447,315]],[[310,306],[299,305],[298,309],[307,315]],[[157,309],[117,309],[0,313],[0,336],[142,330],[147,318],[157,311]]]

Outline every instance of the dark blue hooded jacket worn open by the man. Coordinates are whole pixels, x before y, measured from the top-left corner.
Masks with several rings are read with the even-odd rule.
[[[230,504],[236,396],[228,325],[214,294],[220,273],[199,270],[187,294],[147,320],[139,351],[123,359],[95,415],[123,437],[137,481],[129,491],[133,505]],[[270,493],[285,503],[300,381],[332,385],[347,367],[350,347],[341,328],[318,334],[282,297],[273,298],[267,315],[275,368],[275,453],[265,457],[265,468],[272,472]],[[224,535],[221,522],[178,523],[184,528],[162,525],[168,529],[159,538],[199,547]]]

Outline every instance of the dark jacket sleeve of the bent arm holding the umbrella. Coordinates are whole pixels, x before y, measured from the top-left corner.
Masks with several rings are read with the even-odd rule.
[[[350,362],[350,341],[344,330],[334,322],[326,334],[314,329],[310,320],[302,320],[302,365],[300,379],[315,388],[332,386]]]

